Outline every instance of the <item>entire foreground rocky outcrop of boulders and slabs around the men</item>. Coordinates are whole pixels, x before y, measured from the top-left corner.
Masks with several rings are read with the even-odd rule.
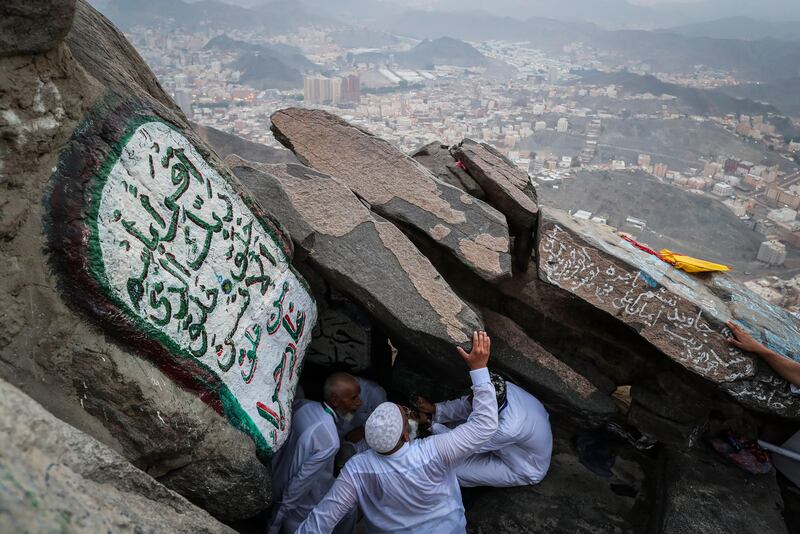
[[[298,383],[440,400],[485,329],[555,451],[537,486],[465,492],[470,531],[788,532],[786,482],[706,439],[796,430],[724,326],[797,357],[792,316],[540,206],[488,145],[411,157],[281,110],[295,161],[198,133],[83,0],[0,16],[3,531],[263,531]]]

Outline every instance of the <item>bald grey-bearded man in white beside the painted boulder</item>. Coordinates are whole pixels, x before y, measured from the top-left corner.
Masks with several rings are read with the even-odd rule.
[[[363,406],[360,394],[352,376],[337,373],[325,381],[325,402],[295,401],[289,437],[272,458],[272,490],[277,498],[270,534],[295,532],[333,485],[339,424],[355,418]],[[336,532],[353,532],[355,519],[353,508],[343,516]]]

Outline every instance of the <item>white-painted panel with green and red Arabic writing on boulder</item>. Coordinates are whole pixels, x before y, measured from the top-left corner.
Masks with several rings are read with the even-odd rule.
[[[91,269],[148,335],[219,378],[272,449],[316,307],[266,226],[180,132],[141,124],[96,192]],[[233,408],[229,410],[229,408]]]

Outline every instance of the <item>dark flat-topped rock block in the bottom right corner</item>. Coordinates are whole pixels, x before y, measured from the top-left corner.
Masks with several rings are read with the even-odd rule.
[[[664,534],[786,534],[775,471],[751,475],[710,452],[664,453],[659,523]]]

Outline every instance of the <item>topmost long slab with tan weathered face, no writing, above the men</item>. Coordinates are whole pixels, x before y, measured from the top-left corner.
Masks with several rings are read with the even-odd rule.
[[[272,131],[302,163],[335,176],[375,213],[426,236],[481,278],[510,276],[502,214],[437,180],[388,141],[310,109],[275,112]]]

